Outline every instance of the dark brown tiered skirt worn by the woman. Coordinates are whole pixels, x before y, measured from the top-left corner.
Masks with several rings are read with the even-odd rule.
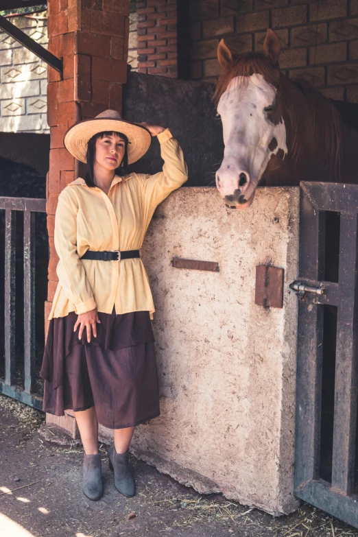
[[[87,342],[73,331],[77,315],[51,319],[40,376],[45,379],[43,410],[95,407],[109,429],[139,425],[159,416],[154,335],[148,311],[98,313],[97,337]]]

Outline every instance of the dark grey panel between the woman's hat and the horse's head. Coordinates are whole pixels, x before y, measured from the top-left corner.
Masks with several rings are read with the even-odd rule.
[[[222,162],[222,122],[215,117],[214,89],[208,82],[131,72],[123,86],[123,119],[162,125],[178,139],[189,169],[186,187],[215,186]],[[162,167],[159,145],[152,141],[147,154],[128,168],[154,174]]]

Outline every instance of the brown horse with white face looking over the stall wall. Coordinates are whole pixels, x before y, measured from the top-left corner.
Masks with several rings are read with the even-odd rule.
[[[358,183],[357,105],[333,102],[305,80],[290,80],[279,56],[272,29],[263,53],[235,56],[223,39],[217,49],[222,74],[214,101],[225,148],[215,181],[230,208],[248,208],[258,185]]]

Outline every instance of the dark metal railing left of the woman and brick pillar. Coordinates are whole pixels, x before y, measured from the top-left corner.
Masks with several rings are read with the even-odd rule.
[[[5,375],[3,379],[0,379],[0,393],[42,409],[42,398],[34,394],[36,383],[35,218],[36,213],[46,213],[46,200],[0,196],[0,209],[5,210]],[[23,211],[23,387],[16,385],[16,211]]]

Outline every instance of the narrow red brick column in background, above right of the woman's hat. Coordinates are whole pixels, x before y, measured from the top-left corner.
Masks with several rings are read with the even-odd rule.
[[[139,73],[178,77],[177,1],[137,2]]]

